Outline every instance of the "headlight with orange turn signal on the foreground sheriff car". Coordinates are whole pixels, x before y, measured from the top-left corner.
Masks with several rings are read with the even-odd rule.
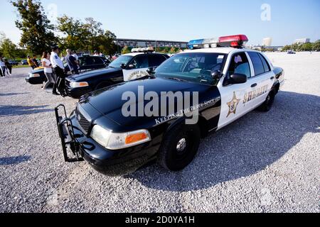
[[[92,128],[91,138],[109,150],[129,148],[151,140],[150,133],[147,130],[112,133],[97,125]]]

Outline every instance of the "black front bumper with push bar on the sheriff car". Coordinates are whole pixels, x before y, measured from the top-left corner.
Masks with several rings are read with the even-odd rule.
[[[59,115],[59,109],[55,108],[55,115],[58,123],[58,132],[63,146],[63,155],[66,162],[77,162],[85,160],[95,170],[110,176],[122,176],[139,170],[148,162],[156,158],[160,144],[153,144],[152,141],[142,145],[123,150],[107,150],[100,144],[85,135],[81,130],[75,114],[67,118]],[[68,150],[71,150],[75,158],[68,157]]]

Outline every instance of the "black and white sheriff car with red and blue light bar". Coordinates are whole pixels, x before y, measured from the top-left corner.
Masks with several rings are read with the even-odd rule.
[[[246,41],[245,35],[195,40],[189,45],[194,50],[145,77],[82,96],[70,117],[65,110],[60,116],[58,106],[65,161],[84,159],[107,175],[126,175],[151,160],[182,170],[201,137],[253,109],[269,111],[284,83],[283,70],[243,49]]]

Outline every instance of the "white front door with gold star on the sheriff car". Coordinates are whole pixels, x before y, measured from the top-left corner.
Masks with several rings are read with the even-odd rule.
[[[246,52],[237,52],[231,57],[228,57],[225,70],[223,74],[225,77],[220,79],[218,89],[221,94],[221,110],[220,119],[218,123],[218,129],[227,126],[229,123],[235,121],[241,116],[245,115],[250,109],[252,109],[252,102],[244,104],[243,100],[245,95],[250,92],[253,68],[249,57]],[[228,63],[229,62],[229,63]],[[232,84],[230,83],[230,76],[232,74],[245,74],[248,81],[244,84]]]

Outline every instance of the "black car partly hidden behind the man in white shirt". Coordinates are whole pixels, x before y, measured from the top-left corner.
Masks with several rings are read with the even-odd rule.
[[[97,70],[106,67],[109,65],[109,62],[106,62],[103,57],[98,56],[89,56],[84,55],[79,57],[80,63],[80,73],[87,72],[90,70]],[[68,63],[66,61],[63,62],[65,66],[65,73],[71,74]],[[43,67],[38,67],[32,72],[28,74],[26,78],[26,82],[30,84],[43,84],[46,81],[46,75],[44,74]]]

